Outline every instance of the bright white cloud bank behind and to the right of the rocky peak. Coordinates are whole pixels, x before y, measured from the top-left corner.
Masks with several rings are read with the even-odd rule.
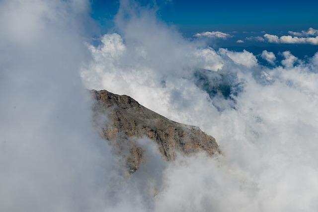
[[[199,154],[169,163],[153,211],[318,209],[318,54],[300,61],[284,52],[283,66],[275,66],[275,55],[266,51],[261,57],[275,66],[269,69],[247,51],[189,42],[150,11],[127,4],[117,27],[118,34],[89,47],[86,86],[131,95],[168,118],[197,125],[223,151],[214,159]],[[227,76],[223,85],[240,89],[230,98],[210,95],[209,87],[198,86],[198,72],[211,87]]]

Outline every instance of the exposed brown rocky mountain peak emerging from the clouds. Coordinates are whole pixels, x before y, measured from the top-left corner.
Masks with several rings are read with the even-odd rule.
[[[198,127],[171,121],[140,105],[126,95],[117,95],[106,90],[92,90],[94,120],[106,115],[107,121],[99,123],[101,135],[113,143],[115,149],[127,155],[130,171],[137,170],[143,160],[144,150],[136,139],[148,137],[159,145],[166,160],[173,160],[177,152],[191,154],[204,150],[213,155],[218,152],[215,139]]]

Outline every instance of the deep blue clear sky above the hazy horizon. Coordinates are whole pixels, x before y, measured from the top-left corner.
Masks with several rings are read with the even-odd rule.
[[[157,0],[157,4],[159,17],[181,30],[318,28],[318,0]],[[92,17],[109,21],[118,7],[119,0],[92,0]]]

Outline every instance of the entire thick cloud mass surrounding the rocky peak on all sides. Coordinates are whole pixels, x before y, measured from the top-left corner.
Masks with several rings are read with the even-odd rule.
[[[269,69],[247,51],[188,41],[128,1],[117,33],[87,50],[88,10],[0,3],[0,211],[318,210],[318,54],[264,52]],[[199,126],[223,154],[166,163],[144,138],[147,162],[126,175],[92,128],[82,81]]]

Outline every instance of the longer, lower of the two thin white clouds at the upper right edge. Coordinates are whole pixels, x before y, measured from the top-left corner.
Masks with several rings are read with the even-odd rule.
[[[285,43],[285,44],[312,44],[318,45],[318,36],[315,38],[299,38],[290,35],[278,37],[276,35],[265,34],[264,37],[269,43]]]

